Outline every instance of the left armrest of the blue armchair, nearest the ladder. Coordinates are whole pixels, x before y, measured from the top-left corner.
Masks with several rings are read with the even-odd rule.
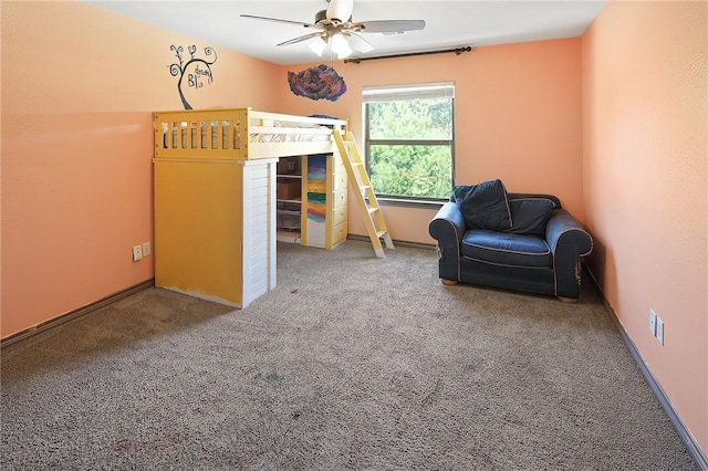
[[[465,218],[457,203],[448,201],[428,226],[430,237],[438,241],[439,274],[444,280],[460,280],[460,243],[465,236]]]

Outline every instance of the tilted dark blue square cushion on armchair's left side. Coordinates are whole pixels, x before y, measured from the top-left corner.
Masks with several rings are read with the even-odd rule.
[[[500,231],[511,229],[511,211],[507,189],[501,180],[483,181],[452,189],[465,223],[468,228]]]

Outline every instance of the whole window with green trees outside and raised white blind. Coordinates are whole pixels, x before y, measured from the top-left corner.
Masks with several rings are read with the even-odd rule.
[[[447,199],[455,161],[455,86],[364,88],[366,168],[377,196]]]

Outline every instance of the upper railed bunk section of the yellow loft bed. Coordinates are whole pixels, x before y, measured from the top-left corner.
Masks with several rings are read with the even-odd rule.
[[[215,108],[155,112],[155,157],[251,160],[336,151],[344,119]]]

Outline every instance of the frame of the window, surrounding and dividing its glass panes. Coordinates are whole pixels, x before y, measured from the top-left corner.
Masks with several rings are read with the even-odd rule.
[[[383,102],[383,101],[407,101],[410,98],[406,98],[406,96],[410,96],[406,94],[406,90],[410,88],[419,88],[419,87],[429,87],[429,88],[439,88],[446,90],[440,97],[449,97],[450,98],[450,118],[451,118],[451,129],[450,129],[450,139],[372,139],[371,137],[371,127],[369,126],[369,107],[371,103]],[[393,97],[393,100],[366,100],[366,92],[373,91],[373,93],[377,93],[379,95],[386,97]],[[386,93],[389,91],[391,93]],[[396,95],[402,95],[399,100],[395,100]],[[420,96],[420,100],[430,98],[434,96]],[[414,98],[415,100],[415,98]],[[419,84],[402,84],[402,85],[391,85],[385,87],[364,87],[363,90],[363,100],[362,105],[364,107],[364,155],[365,155],[365,165],[366,171],[372,175],[371,169],[371,147],[376,145],[388,145],[388,146],[441,146],[449,147],[450,149],[450,193],[452,192],[452,188],[455,187],[455,83],[454,82],[445,82],[445,83],[419,83]],[[445,201],[448,200],[446,198],[436,198],[436,197],[424,197],[424,196],[407,196],[407,195],[388,195],[376,191],[374,188],[374,192],[376,193],[376,198],[379,202],[387,203],[391,206],[413,206],[413,207],[428,207],[430,205],[440,206]]]

